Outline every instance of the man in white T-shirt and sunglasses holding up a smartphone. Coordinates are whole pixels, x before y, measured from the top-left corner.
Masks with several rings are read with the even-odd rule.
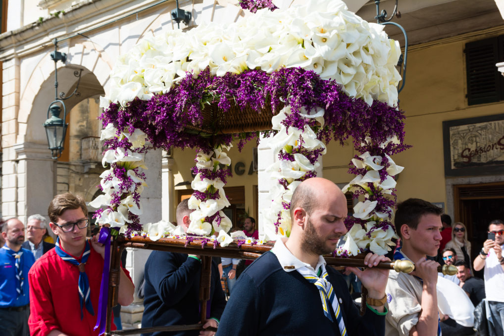
[[[504,222],[493,220],[488,226],[488,239],[474,259],[474,270],[485,268],[485,294],[490,305],[493,326],[497,336],[503,336],[504,325]]]

